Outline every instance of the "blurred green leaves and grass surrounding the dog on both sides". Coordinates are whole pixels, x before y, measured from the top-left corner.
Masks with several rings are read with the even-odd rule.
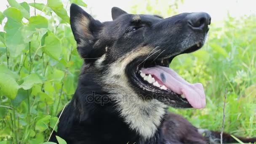
[[[56,114],[71,99],[82,60],[61,0],[47,0],[47,5],[8,2],[10,7],[0,12],[0,143],[39,144],[47,141]],[[69,3],[86,6],[82,0]],[[168,17],[180,3],[139,1],[132,12]],[[32,16],[34,7],[40,13]],[[197,127],[220,130],[227,88],[225,131],[256,136],[255,34],[256,16],[213,21],[205,46],[176,57],[170,65],[189,82],[203,83],[207,107],[170,110]]]

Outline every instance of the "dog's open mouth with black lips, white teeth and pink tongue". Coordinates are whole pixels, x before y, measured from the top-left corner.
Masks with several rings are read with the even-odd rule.
[[[179,54],[197,51],[202,46],[203,43],[196,43]],[[137,62],[132,64],[133,68],[128,69],[131,82],[139,87],[143,96],[158,99],[169,106],[203,108],[206,104],[203,85],[189,83],[169,68],[173,58],[179,54],[148,59],[143,61],[143,64],[142,61],[136,60]]]

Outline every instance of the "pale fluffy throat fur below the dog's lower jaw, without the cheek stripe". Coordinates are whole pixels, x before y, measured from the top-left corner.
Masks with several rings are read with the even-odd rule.
[[[104,91],[115,101],[116,110],[129,128],[139,134],[141,139],[151,139],[157,133],[168,108],[156,99],[144,100],[128,83],[127,77],[119,73],[105,75],[101,80]]]

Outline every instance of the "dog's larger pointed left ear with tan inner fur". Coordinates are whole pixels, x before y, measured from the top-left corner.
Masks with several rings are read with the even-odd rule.
[[[93,45],[95,43],[95,35],[102,26],[101,22],[93,19],[90,14],[86,13],[78,5],[72,4],[70,6],[70,25],[77,41],[77,51],[80,56],[84,59],[98,57],[96,55],[101,52],[93,48]]]

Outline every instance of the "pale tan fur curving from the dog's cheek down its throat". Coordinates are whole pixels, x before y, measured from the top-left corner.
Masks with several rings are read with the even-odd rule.
[[[109,72],[104,75],[104,88],[115,99],[117,110],[131,129],[137,131],[144,140],[154,136],[165,114],[165,104],[156,99],[144,100],[131,88],[125,75],[126,66],[139,56],[148,55],[153,48],[142,47],[125,54],[110,64]],[[145,114],[147,113],[147,114]]]

